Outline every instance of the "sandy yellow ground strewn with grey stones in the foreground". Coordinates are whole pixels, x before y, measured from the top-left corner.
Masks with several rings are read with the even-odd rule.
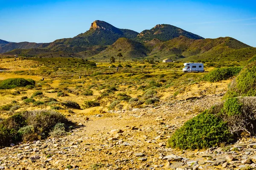
[[[73,115],[68,118],[80,127],[64,138],[1,149],[0,169],[256,169],[255,138],[208,150],[166,147],[167,139],[178,127],[221,98],[222,94],[201,96],[163,101],[157,107]]]

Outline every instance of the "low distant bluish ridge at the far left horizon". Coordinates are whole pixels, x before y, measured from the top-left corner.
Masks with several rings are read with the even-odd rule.
[[[29,49],[29,48],[44,48],[49,43],[35,43],[35,42],[9,42],[6,45],[0,46],[0,53],[12,51],[14,49]]]

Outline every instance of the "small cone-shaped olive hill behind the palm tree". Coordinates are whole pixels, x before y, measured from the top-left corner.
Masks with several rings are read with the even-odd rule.
[[[130,40],[128,38],[119,38],[106,48],[104,51],[93,56],[94,58],[110,58],[111,56],[116,57],[117,54],[122,53],[125,59],[147,57],[149,52],[142,43]]]

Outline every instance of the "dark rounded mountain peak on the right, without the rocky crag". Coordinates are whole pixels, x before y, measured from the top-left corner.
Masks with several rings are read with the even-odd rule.
[[[168,41],[172,40],[176,37],[188,37],[190,39],[204,39],[203,37],[193,34],[191,32],[185,31],[181,28],[168,25],[168,24],[158,24],[154,28],[151,28],[150,30],[144,30],[138,36],[136,37],[136,40],[140,42],[147,42],[150,40],[153,40],[154,38],[157,38],[161,41]]]

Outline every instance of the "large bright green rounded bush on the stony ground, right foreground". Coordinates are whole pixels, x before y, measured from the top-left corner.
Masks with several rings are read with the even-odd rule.
[[[204,111],[187,121],[168,140],[168,146],[179,149],[205,149],[221,142],[233,142],[227,123]]]

